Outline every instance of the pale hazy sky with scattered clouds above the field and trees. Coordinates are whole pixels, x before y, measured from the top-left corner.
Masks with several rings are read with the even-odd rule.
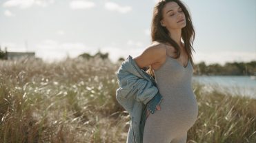
[[[193,58],[256,61],[255,0],[182,0],[195,28]],[[0,46],[45,61],[108,52],[112,62],[148,45],[157,0],[0,0]]]

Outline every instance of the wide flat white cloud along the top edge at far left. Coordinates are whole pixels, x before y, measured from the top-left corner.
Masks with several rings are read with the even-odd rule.
[[[46,7],[50,3],[54,3],[55,0],[8,0],[3,3],[3,7],[11,8],[18,7],[21,9],[26,9],[32,7],[32,5],[37,5],[40,7]]]

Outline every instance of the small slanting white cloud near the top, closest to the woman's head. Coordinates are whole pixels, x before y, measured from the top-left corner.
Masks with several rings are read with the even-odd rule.
[[[110,10],[110,11],[117,11],[120,13],[127,13],[130,12],[132,10],[132,7],[130,6],[121,6],[118,5],[117,3],[113,3],[113,2],[106,2],[105,3],[105,8],[106,10]]]

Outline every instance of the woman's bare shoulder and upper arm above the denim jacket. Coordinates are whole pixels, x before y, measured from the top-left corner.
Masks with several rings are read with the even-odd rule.
[[[163,43],[154,42],[139,56],[135,57],[135,62],[140,68],[148,67],[163,61],[166,56],[166,45]]]

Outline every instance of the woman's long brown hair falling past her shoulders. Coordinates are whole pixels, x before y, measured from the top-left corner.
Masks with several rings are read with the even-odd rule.
[[[160,21],[163,19],[162,10],[164,9],[164,6],[166,5],[166,3],[171,1],[177,3],[185,14],[186,27],[181,29],[181,38],[184,41],[185,50],[188,54],[188,59],[190,59],[193,67],[195,67],[193,62],[193,54],[192,54],[192,50],[195,52],[192,46],[195,39],[195,30],[193,28],[190,14],[187,8],[185,7],[185,5],[181,1],[161,0],[155,5],[153,10],[152,23],[151,23],[151,41],[152,42],[159,41],[161,43],[169,43],[170,45],[173,45],[173,47],[175,47],[175,50],[177,51],[177,55],[175,56],[175,58],[179,58],[180,56],[179,45],[173,39],[170,38],[170,36],[168,35],[169,33],[168,30],[165,27],[161,26],[161,23],[160,23]],[[149,66],[146,72],[150,74],[150,76],[153,76],[155,78],[151,65]]]

